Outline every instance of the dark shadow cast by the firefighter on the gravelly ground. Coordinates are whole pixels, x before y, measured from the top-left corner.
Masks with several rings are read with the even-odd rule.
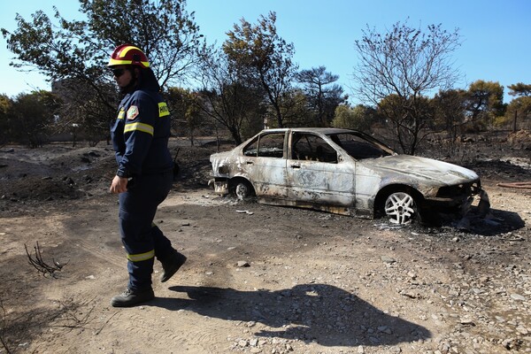
[[[325,346],[396,345],[431,337],[427,328],[386,314],[331,285],[303,284],[277,291],[192,286],[170,290],[188,298],[158,297],[150,304],[171,311],[185,309],[211,318],[266,325],[254,334],[257,336],[299,339]]]

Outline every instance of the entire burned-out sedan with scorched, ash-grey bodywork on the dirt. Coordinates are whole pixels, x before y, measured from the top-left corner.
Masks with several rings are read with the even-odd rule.
[[[259,203],[311,208],[393,224],[488,204],[476,173],[397,154],[370,135],[337,128],[265,129],[211,155],[214,189]]]

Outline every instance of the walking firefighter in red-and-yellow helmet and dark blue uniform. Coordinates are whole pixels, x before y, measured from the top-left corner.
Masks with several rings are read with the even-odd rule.
[[[151,273],[154,259],[162,263],[160,281],[168,281],[186,261],[153,224],[158,204],[173,184],[173,158],[168,150],[170,112],[150,62],[139,48],[123,44],[108,66],[125,95],[111,127],[118,163],[110,191],[119,195],[119,229],[127,251],[127,289],[112,297],[114,307],[128,307],[155,297]]]

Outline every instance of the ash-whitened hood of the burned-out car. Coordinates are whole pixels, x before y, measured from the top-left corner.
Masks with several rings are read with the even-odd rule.
[[[475,172],[465,167],[418,156],[394,155],[361,160],[358,163],[375,170],[394,172],[396,175],[410,178],[415,176],[426,181],[439,181],[447,185],[479,179]]]

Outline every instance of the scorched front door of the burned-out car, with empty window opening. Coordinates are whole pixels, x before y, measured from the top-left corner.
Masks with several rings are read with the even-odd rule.
[[[320,135],[292,132],[287,166],[289,199],[302,204],[353,207],[355,169],[355,162],[345,160]]]

